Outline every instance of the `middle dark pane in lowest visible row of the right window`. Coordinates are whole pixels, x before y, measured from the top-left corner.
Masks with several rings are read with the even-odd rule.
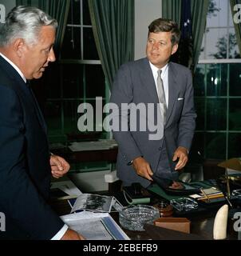
[[[226,158],[226,134],[206,134],[206,158]]]

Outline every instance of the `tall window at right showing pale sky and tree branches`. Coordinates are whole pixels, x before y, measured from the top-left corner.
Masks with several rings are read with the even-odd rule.
[[[194,77],[196,134],[204,158],[240,157],[241,59],[228,0],[211,0]]]

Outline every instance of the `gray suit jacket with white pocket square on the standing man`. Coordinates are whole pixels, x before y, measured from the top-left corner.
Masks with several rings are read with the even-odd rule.
[[[170,62],[168,69],[168,111],[164,126],[164,139],[170,168],[176,172],[176,163],[172,162],[173,154],[178,146],[184,146],[188,150],[192,145],[192,137],[196,127],[196,112],[193,102],[192,74],[188,68]],[[114,79],[110,102],[119,107],[119,112],[113,111],[113,121],[121,124],[128,122],[129,112],[122,108],[123,103],[144,104],[155,103],[156,113],[159,106],[156,85],[152,70],[147,58],[135,62],[128,62],[121,66]],[[122,105],[121,105],[122,103]],[[127,105],[126,104],[126,105]],[[117,114],[119,113],[119,114]],[[140,114],[140,122],[143,115]],[[144,117],[145,118],[145,117]],[[138,119],[138,118],[137,118]],[[148,119],[148,118],[147,118]],[[142,120],[143,121],[143,120]],[[146,120],[147,123],[149,120]],[[141,131],[140,122],[137,121],[136,131],[115,131],[114,138],[117,140],[119,151],[117,156],[117,175],[125,183],[140,182],[142,186],[148,186],[150,182],[138,176],[128,162],[143,156],[151,165],[155,173],[160,159],[162,143],[164,139],[151,140],[151,130]],[[148,128],[148,127],[147,127]]]

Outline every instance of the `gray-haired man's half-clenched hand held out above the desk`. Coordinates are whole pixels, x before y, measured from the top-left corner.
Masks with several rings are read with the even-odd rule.
[[[61,178],[70,168],[69,163],[66,162],[64,158],[55,154],[50,156],[50,166],[53,178]]]

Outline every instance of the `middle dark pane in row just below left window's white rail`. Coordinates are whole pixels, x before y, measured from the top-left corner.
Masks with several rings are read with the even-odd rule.
[[[63,65],[63,98],[83,98],[83,66]]]

